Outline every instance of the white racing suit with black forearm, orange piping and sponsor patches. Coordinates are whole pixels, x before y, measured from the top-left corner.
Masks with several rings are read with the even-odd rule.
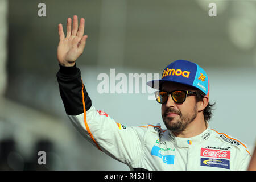
[[[65,111],[78,131],[107,155],[131,170],[246,170],[251,156],[245,144],[224,133],[207,129],[180,138],[157,125],[125,126],[92,106],[74,67],[57,73]]]

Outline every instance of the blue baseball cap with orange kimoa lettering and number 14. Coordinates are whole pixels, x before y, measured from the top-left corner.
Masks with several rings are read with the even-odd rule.
[[[161,89],[163,82],[177,82],[200,89],[209,96],[207,73],[198,64],[186,60],[176,60],[169,64],[162,73],[162,79],[148,81],[147,85]]]

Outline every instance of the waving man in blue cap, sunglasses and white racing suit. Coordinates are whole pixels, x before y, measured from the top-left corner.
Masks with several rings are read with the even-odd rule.
[[[75,61],[84,50],[84,19],[67,20],[67,36],[59,24],[57,80],[65,111],[73,125],[99,150],[134,170],[246,170],[250,154],[245,144],[210,129],[209,81],[199,65],[185,60],[169,64],[161,80],[148,82],[160,89],[167,130],[158,125],[127,127],[97,111],[81,80]]]

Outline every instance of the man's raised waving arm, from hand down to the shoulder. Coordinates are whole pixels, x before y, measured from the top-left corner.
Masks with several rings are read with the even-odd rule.
[[[81,79],[75,61],[84,51],[87,36],[84,34],[84,19],[77,30],[77,16],[67,20],[67,37],[59,24],[60,43],[57,58],[60,70],[57,73],[60,95],[65,111],[76,129],[99,150],[129,166],[138,159],[144,142],[146,129],[126,127],[117,123],[103,111],[92,106],[89,94]],[[74,30],[75,28],[75,30]]]

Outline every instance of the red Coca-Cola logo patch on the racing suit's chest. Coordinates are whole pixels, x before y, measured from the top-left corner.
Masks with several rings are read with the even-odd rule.
[[[209,148],[201,148],[201,157],[230,159],[230,150],[214,150]]]

